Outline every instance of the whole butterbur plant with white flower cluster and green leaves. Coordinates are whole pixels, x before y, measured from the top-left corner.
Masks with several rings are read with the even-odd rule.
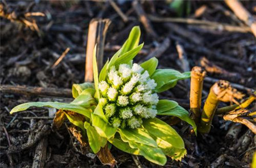
[[[166,163],[166,156],[181,160],[187,153],[183,139],[156,116],[178,117],[191,124],[196,132],[195,122],[177,102],[159,100],[158,93],[174,87],[178,80],[189,78],[190,72],[156,70],[156,58],[141,64],[133,63],[143,46],[139,45],[140,35],[139,27],[134,27],[125,44],[105,63],[100,73],[95,48],[94,84],[74,84],[72,94],[75,100],[70,104],[28,102],[14,107],[11,114],[31,106],[54,107],[84,132],[94,153],[110,143],[123,152],[143,156],[158,165]]]

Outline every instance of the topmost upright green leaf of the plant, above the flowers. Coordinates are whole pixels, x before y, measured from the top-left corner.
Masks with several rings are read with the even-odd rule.
[[[135,26],[131,29],[129,37],[125,41],[125,44],[123,44],[120,55],[136,48],[139,44],[139,37],[141,37],[141,29],[139,29],[139,26]]]

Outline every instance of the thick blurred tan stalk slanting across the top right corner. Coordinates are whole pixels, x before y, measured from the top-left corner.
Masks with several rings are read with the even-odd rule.
[[[225,3],[240,20],[244,21],[251,28],[251,32],[256,37],[256,21],[250,12],[243,7],[242,3],[237,0],[225,0]]]

